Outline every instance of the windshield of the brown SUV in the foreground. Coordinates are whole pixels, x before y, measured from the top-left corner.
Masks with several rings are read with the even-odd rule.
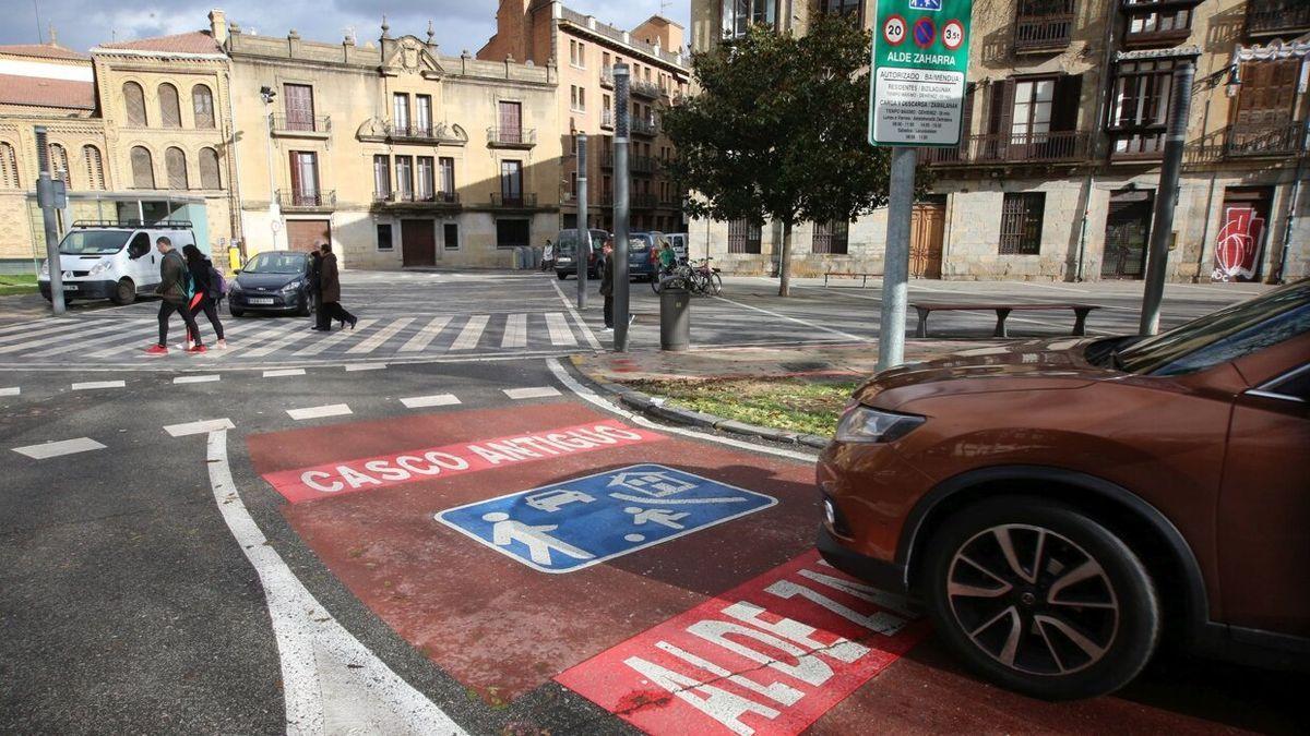
[[[1310,280],[1220,309],[1115,354],[1129,373],[1204,371],[1310,331]]]

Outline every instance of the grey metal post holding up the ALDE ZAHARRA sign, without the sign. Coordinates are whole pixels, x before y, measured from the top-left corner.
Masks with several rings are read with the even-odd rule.
[[[905,361],[905,310],[909,301],[909,228],[914,211],[913,148],[892,148],[887,193],[887,251],[883,257],[883,314],[878,329],[878,369]]]

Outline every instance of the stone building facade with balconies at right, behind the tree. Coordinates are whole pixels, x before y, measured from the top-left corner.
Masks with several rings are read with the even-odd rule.
[[[751,22],[872,22],[871,0],[693,0],[694,48]],[[958,148],[921,149],[921,278],[1096,280],[1144,272],[1172,68],[1196,64],[1169,278],[1310,274],[1310,4],[1301,0],[977,0]],[[781,228],[693,221],[693,251],[776,270]],[[886,211],[796,228],[796,274],[882,272]]]

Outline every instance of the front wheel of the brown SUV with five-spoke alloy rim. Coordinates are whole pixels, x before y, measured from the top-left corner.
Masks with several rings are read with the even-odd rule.
[[[1077,508],[998,498],[960,509],[927,545],[929,613],[984,677],[1038,698],[1090,698],[1150,660],[1161,622],[1150,575]]]

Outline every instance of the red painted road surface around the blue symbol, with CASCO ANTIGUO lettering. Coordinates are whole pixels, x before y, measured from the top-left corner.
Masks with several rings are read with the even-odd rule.
[[[572,437],[591,441],[571,452],[531,440],[579,430]],[[510,445],[512,461],[469,449],[499,441],[504,453],[504,441],[524,437]],[[1231,732],[1184,715],[1187,684],[1171,691],[1148,676],[1124,697],[1044,703],[963,674],[931,638],[920,642],[926,625],[895,598],[817,559],[821,512],[807,464],[637,430],[569,401],[257,435],[248,445],[255,470],[297,502],[284,513],[331,572],[493,705],[554,678],[654,733]],[[460,462],[432,452],[469,468],[444,468],[435,461]],[[534,571],[434,519],[645,462],[778,504],[567,575]],[[320,473],[313,483],[309,471]],[[1230,723],[1247,708],[1222,698],[1188,707]]]

